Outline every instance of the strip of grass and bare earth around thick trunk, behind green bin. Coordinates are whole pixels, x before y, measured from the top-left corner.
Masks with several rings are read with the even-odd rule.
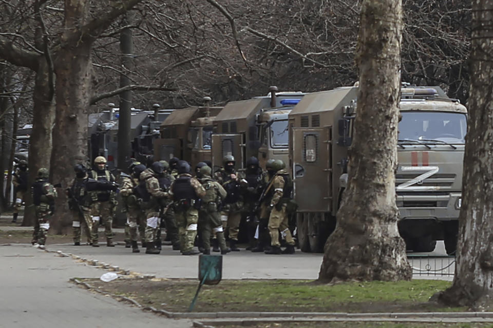
[[[90,280],[97,288],[136,299],[168,311],[187,311],[198,281],[186,279],[117,279],[109,283]],[[466,311],[430,303],[434,293],[451,282],[411,280],[399,282],[349,282],[336,285],[309,280],[223,280],[204,285],[196,312],[434,312]]]

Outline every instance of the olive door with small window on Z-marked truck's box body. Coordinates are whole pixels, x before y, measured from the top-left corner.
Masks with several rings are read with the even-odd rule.
[[[331,127],[293,128],[294,199],[298,212],[330,212]]]

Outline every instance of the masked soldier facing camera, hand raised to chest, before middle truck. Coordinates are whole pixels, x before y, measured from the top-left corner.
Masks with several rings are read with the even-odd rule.
[[[227,196],[221,210],[222,227],[229,229],[230,249],[239,251],[236,247],[240,230],[241,212],[243,210],[242,189],[247,187],[247,181],[238,176],[235,171],[235,158],[226,155],[223,158],[223,167],[214,174],[216,180],[226,190]],[[213,251],[218,252],[216,242]]]

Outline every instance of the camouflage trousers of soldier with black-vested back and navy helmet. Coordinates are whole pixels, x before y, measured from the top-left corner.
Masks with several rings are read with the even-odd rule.
[[[175,218],[180,236],[180,251],[182,253],[191,251],[197,236],[199,211],[194,207],[177,206]]]

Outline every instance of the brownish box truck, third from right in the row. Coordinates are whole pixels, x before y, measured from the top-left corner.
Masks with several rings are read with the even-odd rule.
[[[195,167],[198,162],[211,160],[213,119],[222,107],[210,107],[205,97],[203,107],[175,110],[161,124],[161,138],[154,140],[156,160],[173,157],[186,160]]]

